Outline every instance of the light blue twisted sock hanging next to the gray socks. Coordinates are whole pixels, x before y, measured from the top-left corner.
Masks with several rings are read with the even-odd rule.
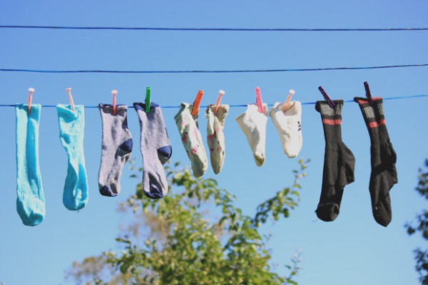
[[[63,191],[63,204],[76,211],[88,203],[88,180],[86,179],[85,155],[83,153],[83,130],[85,113],[83,105],[56,105],[58,111],[59,138],[68,155],[68,169]]]

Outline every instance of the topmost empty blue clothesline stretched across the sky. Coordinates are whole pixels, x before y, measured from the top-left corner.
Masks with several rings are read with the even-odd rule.
[[[128,30],[128,31],[428,31],[428,28],[158,28],[113,26],[23,26],[0,25],[0,28],[45,28],[65,30]]]

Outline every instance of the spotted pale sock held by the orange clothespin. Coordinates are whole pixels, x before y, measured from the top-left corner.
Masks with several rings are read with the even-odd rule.
[[[194,105],[181,103],[180,110],[178,110],[174,119],[181,136],[181,141],[190,159],[193,176],[201,177],[208,168],[208,158],[202,136],[198,129],[199,108],[195,115],[192,115],[193,108]]]

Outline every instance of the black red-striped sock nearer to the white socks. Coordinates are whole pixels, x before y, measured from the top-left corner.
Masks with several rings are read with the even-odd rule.
[[[354,182],[355,157],[342,142],[343,100],[332,100],[333,107],[327,101],[317,101],[315,110],[321,114],[325,136],[324,170],[322,188],[318,203],[317,217],[332,222],[340,212],[343,189]]]

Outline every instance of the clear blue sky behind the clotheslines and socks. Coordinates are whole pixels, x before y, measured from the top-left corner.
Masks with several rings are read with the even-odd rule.
[[[146,26],[223,28],[397,28],[427,27],[427,1],[1,1],[2,25]],[[34,69],[268,69],[335,66],[379,66],[428,63],[428,31],[409,32],[174,32],[174,31],[52,31],[0,29],[0,68]],[[322,100],[323,86],[335,99],[364,96],[362,83],[382,97],[428,93],[428,68],[370,71],[322,71],[240,74],[39,74],[1,73],[0,103],[26,103],[29,87],[34,103],[67,103],[65,88],[73,88],[76,104],[111,102],[131,105],[152,87],[160,105],[193,102],[205,90],[203,105],[215,103],[219,89],[224,103],[255,101],[260,86],[266,103],[284,101],[287,90],[295,100]],[[417,284],[412,250],[426,247],[419,237],[408,237],[404,223],[426,207],[414,191],[417,169],[428,157],[428,98],[384,103],[387,128],[397,152],[399,183],[392,188],[393,218],[387,228],[372,217],[370,195],[370,139],[356,103],[345,103],[342,138],[356,157],[355,182],[345,188],[340,216],[335,222],[317,220],[324,136],[313,105],[302,107],[303,148],[310,158],[302,180],[300,207],[272,229],[273,263],[284,273],[296,249],[303,252],[299,284]],[[226,120],[225,165],[220,175],[208,170],[238,197],[246,214],[292,183],[296,159],[282,153],[269,120],[265,165],[257,167],[250,147],[234,118],[245,108],[233,108]],[[66,153],[58,139],[55,108],[41,110],[40,166],[46,197],[46,218],[25,227],[16,213],[14,108],[1,108],[2,195],[0,199],[0,281],[14,284],[67,284],[63,271],[73,261],[118,249],[118,202],[134,192],[136,180],[123,173],[122,193],[116,198],[98,194],[101,156],[101,119],[97,109],[86,109],[85,153],[90,201],[80,212],[62,204]],[[173,161],[189,164],[173,115],[164,109],[173,144]],[[139,145],[138,118],[129,110],[129,128]],[[205,136],[206,120],[200,117]],[[133,157],[141,164],[138,147]]]

